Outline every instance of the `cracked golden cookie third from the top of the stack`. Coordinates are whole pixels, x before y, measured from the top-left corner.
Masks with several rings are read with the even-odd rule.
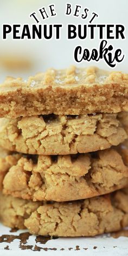
[[[125,146],[80,155],[22,155],[5,173],[1,187],[4,194],[33,201],[107,194],[128,184],[127,155]]]

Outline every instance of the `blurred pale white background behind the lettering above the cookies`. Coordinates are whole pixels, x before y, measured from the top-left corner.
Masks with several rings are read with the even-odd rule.
[[[2,40],[1,35],[1,54],[9,55],[10,53],[15,54],[22,54],[27,57],[31,61],[33,61],[33,68],[29,69],[27,72],[15,73],[14,71],[6,71],[2,68],[0,69],[1,78],[0,80],[3,81],[6,75],[18,76],[22,75],[24,78],[27,78],[28,75],[35,74],[36,72],[45,71],[47,68],[54,67],[54,68],[66,68],[69,65],[77,65],[77,66],[88,66],[88,65],[97,65],[103,69],[110,69],[104,60],[100,62],[82,62],[82,63],[75,63],[73,59],[73,52],[74,47],[77,45],[81,45],[84,48],[98,48],[99,42],[101,40],[98,39],[98,36],[95,36],[94,40],[67,40],[66,39],[66,25],[67,23],[74,23],[74,24],[87,24],[92,16],[92,12],[96,12],[99,17],[95,18],[94,23],[118,23],[124,24],[125,27],[127,25],[127,8],[128,2],[127,0],[0,0],[1,7],[1,21],[0,25],[2,27],[2,23],[15,23],[15,24],[24,24],[24,23],[33,23],[36,24],[33,18],[29,17],[33,11],[37,12],[38,18],[40,19],[40,24],[42,23],[62,23],[63,29],[61,31],[61,39],[60,40],[12,40],[11,36],[8,37],[8,40]],[[57,16],[52,18],[48,18],[47,20],[41,20],[41,16],[38,9],[45,6],[48,7],[49,4],[55,4],[55,9],[57,12]],[[74,7],[75,4],[82,5],[81,12],[84,8],[88,8],[88,18],[86,20],[82,20],[80,17],[76,18],[74,16],[65,16],[65,6],[66,3],[71,3]],[[48,10],[48,8],[47,8]],[[125,30],[125,36],[127,37],[127,28]],[[109,43],[112,43],[114,48],[121,48],[123,53],[125,54],[125,60],[121,63],[118,63],[116,70],[120,70],[123,72],[127,72],[128,67],[128,59],[127,59],[127,43],[126,40],[109,40]]]

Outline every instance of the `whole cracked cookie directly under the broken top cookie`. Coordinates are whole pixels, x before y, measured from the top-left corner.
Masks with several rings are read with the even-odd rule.
[[[128,133],[122,123],[117,113],[1,118],[0,144],[5,149],[37,155],[92,152],[123,142]]]

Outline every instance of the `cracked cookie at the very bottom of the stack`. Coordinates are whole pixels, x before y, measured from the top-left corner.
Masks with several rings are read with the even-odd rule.
[[[0,195],[4,225],[28,228],[31,234],[94,236],[128,225],[128,188],[71,202],[32,202]]]

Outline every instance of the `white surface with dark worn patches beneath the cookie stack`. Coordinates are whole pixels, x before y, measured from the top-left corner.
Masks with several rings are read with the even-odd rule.
[[[18,235],[26,231],[17,231],[10,233],[10,229],[0,225],[0,239],[2,234],[9,235]],[[20,256],[20,255],[120,255],[126,256],[128,255],[128,238],[120,237],[118,239],[114,239],[109,235],[97,236],[95,238],[57,238],[52,239],[46,242],[46,244],[40,244],[39,242],[35,242],[36,236],[32,235],[29,237],[27,241],[27,245],[33,245],[32,249],[21,250],[19,248],[20,240],[15,239],[11,244],[7,242],[0,242],[0,255],[1,256]],[[9,246],[9,250],[5,250],[5,246]],[[42,247],[41,251],[34,251],[34,247],[39,246]],[[78,250],[76,250],[76,246],[79,246]],[[69,248],[71,248],[71,251]],[[97,247],[94,249],[93,247]],[[47,251],[44,251],[43,248],[48,248]],[[51,250],[50,248],[56,248],[56,251]],[[64,248],[61,251],[61,248]],[[84,248],[87,248],[86,250]]]

